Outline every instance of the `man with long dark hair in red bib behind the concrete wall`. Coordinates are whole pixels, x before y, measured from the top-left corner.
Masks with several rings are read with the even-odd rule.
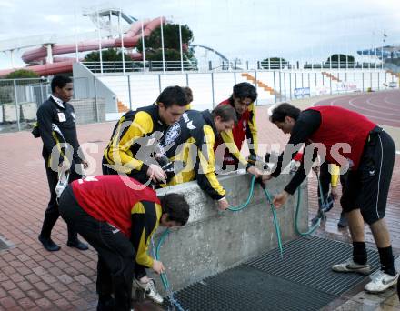
[[[255,156],[257,153],[255,99],[257,99],[255,86],[247,82],[242,82],[235,85],[233,94],[219,104],[231,105],[235,108],[237,116],[237,123],[232,131],[221,133],[214,146],[217,163],[222,164],[222,169],[224,171],[235,170],[240,163],[247,167],[247,171],[250,174],[257,175],[255,166],[248,166],[245,157],[240,154],[240,149],[242,149],[243,142],[246,138],[248,139],[250,154]]]

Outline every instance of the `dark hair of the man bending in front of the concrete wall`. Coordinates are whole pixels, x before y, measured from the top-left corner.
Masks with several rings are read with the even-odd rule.
[[[168,220],[175,221],[184,226],[189,219],[189,204],[185,197],[178,194],[167,194],[159,197],[163,214],[167,214]]]

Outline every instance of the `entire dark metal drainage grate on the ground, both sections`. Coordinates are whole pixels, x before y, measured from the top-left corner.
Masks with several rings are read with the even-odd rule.
[[[365,279],[331,271],[333,263],[351,256],[352,247],[345,243],[311,236],[284,249],[283,259],[274,249],[187,286],[175,298],[190,311],[319,310]],[[377,252],[368,250],[368,256],[377,268]]]

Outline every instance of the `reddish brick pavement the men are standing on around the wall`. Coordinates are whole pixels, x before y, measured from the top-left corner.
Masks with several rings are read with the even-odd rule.
[[[287,136],[277,131],[267,118],[267,107],[258,109],[257,121],[262,144],[279,142]],[[101,157],[114,122],[78,126],[81,145],[88,147],[90,175],[101,173]],[[65,246],[66,226],[61,219],[53,237],[62,246],[49,253],[37,241],[49,193],[41,156],[42,142],[29,132],[0,135],[0,235],[15,247],[0,252],[0,310],[93,310],[95,309],[96,256],[91,248],[79,252]],[[99,152],[95,153],[95,149]],[[393,245],[400,249],[400,159],[390,190],[386,220],[392,232]],[[309,186],[310,217],[315,215],[315,178]],[[335,238],[346,238],[346,230],[336,226],[339,206],[329,212],[320,230]],[[367,235],[371,239],[370,235]]]

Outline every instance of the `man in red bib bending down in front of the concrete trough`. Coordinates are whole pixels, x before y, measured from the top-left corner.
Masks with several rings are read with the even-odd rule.
[[[183,196],[157,197],[127,176],[90,176],[65,188],[60,215],[98,253],[97,310],[130,311],[135,266],[165,271],[162,262],[147,254],[151,236],[158,225],[184,226],[189,206]],[[155,287],[153,281],[150,286]]]

